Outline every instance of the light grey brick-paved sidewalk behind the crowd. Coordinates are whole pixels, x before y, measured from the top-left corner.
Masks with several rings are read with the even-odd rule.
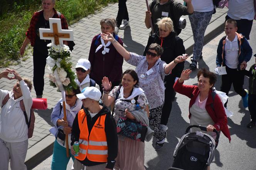
[[[177,0],[183,3],[183,0]],[[151,1],[150,1],[151,2]],[[138,54],[143,53],[145,45],[147,45],[149,29],[145,27],[145,11],[147,9],[145,0],[129,0],[127,2],[127,8],[130,16],[130,27],[125,30],[120,30],[118,36],[122,38],[124,42],[124,47]],[[89,17],[81,19],[79,22],[71,25],[71,29],[74,30],[74,42],[76,43],[73,52],[71,53],[72,62],[75,64],[80,58],[88,58],[89,49],[91,45],[92,38],[100,33],[99,21],[102,18],[116,18],[118,9],[118,3],[111,4],[108,7],[103,8],[101,12],[95,15],[90,15]],[[218,20],[218,18],[227,12],[227,9],[217,9],[217,13],[212,16],[211,22]],[[184,16],[187,19],[187,27],[182,30],[180,37],[186,41],[192,37],[192,30],[188,16]],[[11,68],[18,70],[20,75],[27,76],[32,79],[33,77],[33,59],[32,56],[27,56],[29,59],[25,62],[21,62],[17,66],[12,66]],[[134,68],[130,64],[124,62],[123,71],[128,68]],[[51,123],[51,112],[54,105],[61,98],[61,93],[57,92],[56,89],[49,85],[48,78],[46,77],[50,71],[45,69],[45,85],[44,85],[44,98],[48,100],[47,110],[35,110],[35,129],[33,137],[29,139],[29,148],[40,142],[42,139],[47,137],[50,132],[49,129],[52,126]],[[15,81],[9,81],[7,79],[2,79],[0,88],[5,90],[12,90],[12,86]],[[32,97],[35,98],[35,91],[32,89]]]

